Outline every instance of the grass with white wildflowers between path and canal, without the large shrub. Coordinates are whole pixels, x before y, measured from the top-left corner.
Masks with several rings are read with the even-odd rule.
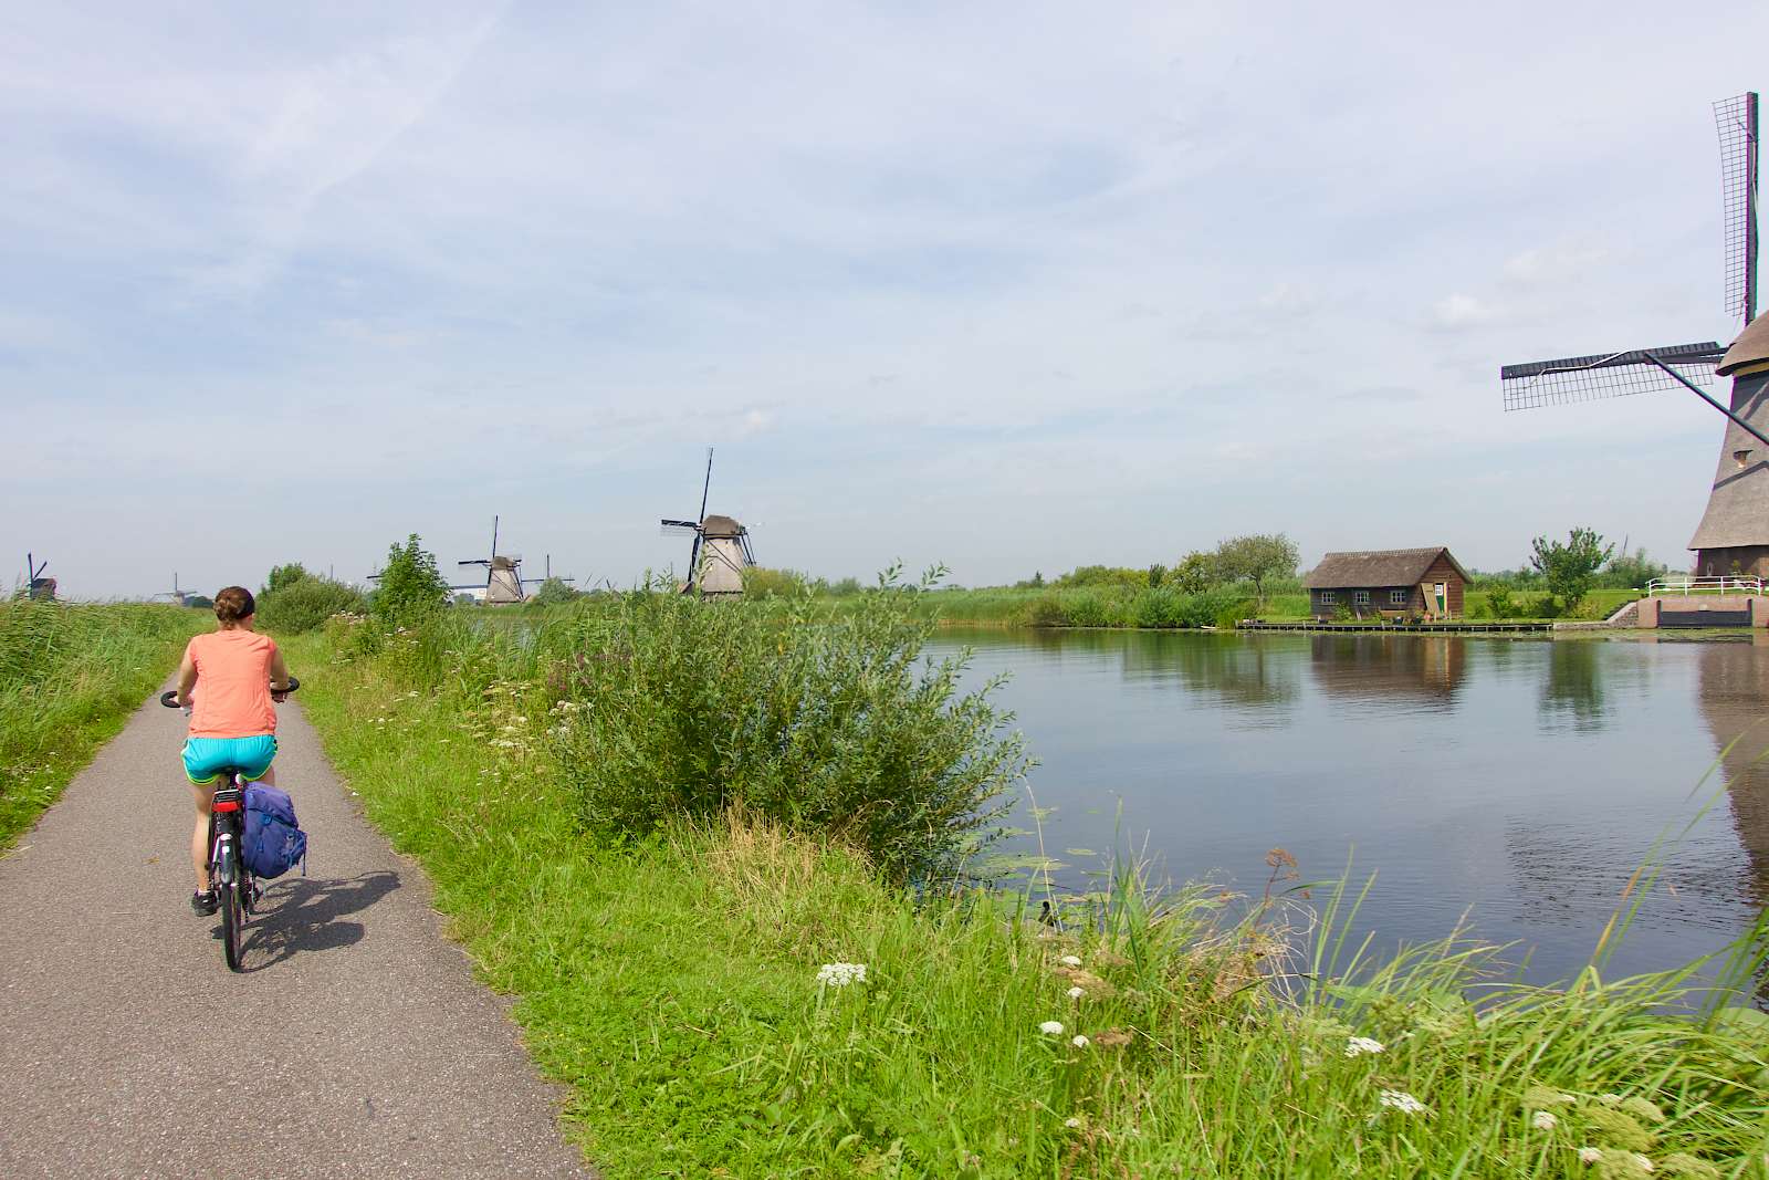
[[[290,665],[609,1176],[1769,1176],[1769,1037],[1668,1015],[1684,973],[1511,987],[1459,943],[1362,957],[1346,899],[1302,938],[1295,897],[1123,867],[1056,931],[732,810],[593,837],[561,706],[642,660],[593,614],[564,676],[552,639],[449,626]]]

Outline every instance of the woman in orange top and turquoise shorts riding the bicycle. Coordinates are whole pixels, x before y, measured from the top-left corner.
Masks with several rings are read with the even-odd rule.
[[[216,594],[218,626],[184,649],[179,665],[179,704],[191,709],[184,743],[184,775],[196,800],[196,830],[191,833],[191,867],[196,892],[191,909],[212,915],[219,904],[209,879],[209,807],[216,785],[230,768],[246,782],[276,785],[276,709],[288,690],[283,653],[269,635],[251,630],[257,603],[244,586]],[[191,693],[202,686],[200,693]]]

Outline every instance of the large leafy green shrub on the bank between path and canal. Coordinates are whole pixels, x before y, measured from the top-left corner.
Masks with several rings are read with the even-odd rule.
[[[580,610],[554,665],[552,743],[584,821],[614,837],[731,808],[831,833],[897,881],[987,842],[1028,761],[994,681],[920,663],[934,623],[907,587],[830,612],[808,598],[633,593]]]

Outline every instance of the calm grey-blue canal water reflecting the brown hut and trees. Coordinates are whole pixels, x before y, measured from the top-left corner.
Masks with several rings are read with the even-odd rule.
[[[1378,945],[1467,915],[1535,982],[1587,962],[1661,837],[1610,973],[1714,952],[1769,900],[1760,642],[952,628],[936,651],[961,646],[968,683],[1012,678],[1068,890],[1116,846],[1258,893],[1283,847],[1304,879],[1376,874],[1357,925]]]

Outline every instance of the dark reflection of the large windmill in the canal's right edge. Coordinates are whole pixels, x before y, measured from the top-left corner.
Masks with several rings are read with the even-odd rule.
[[[1758,900],[1769,900],[1769,646],[1702,644],[1700,678],[1702,718],[1723,752],[1727,800],[1751,858],[1751,888]]]

